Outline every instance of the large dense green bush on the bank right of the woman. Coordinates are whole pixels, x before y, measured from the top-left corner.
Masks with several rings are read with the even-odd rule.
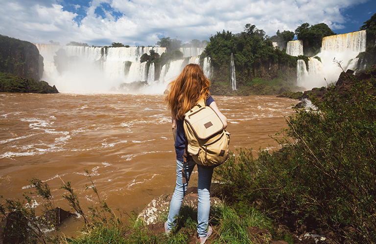
[[[376,241],[376,80],[347,78],[351,88],[328,88],[316,110],[296,109],[276,138],[282,149],[241,150],[216,170],[234,202],[262,200],[274,216],[314,218],[357,243]]]

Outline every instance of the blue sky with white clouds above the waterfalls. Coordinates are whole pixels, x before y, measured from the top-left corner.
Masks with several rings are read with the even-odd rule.
[[[0,0],[0,34],[34,43],[155,45],[161,37],[209,40],[255,24],[268,36],[302,23],[359,30],[375,0]]]

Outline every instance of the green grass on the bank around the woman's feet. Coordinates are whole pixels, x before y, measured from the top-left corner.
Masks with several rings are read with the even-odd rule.
[[[195,238],[196,235],[197,210],[183,206],[179,216],[178,226],[170,235],[165,235],[164,229],[159,233],[153,233],[141,222],[133,222],[121,227],[95,226],[80,232],[82,235],[79,237],[68,238],[64,242],[68,244],[188,244],[192,236],[194,235]],[[212,244],[252,244],[254,239],[249,232],[250,227],[268,229],[271,233],[277,233],[273,222],[254,208],[243,209],[239,214],[230,206],[213,207],[210,224],[213,228],[213,234],[209,239]],[[272,234],[266,238],[271,240]]]

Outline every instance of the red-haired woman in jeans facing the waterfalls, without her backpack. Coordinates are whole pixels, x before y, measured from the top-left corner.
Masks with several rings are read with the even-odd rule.
[[[194,168],[193,161],[183,163],[186,136],[183,127],[183,116],[193,107],[200,98],[206,99],[206,105],[210,106],[227,127],[227,118],[219,111],[209,93],[210,81],[198,64],[188,64],[184,67],[179,77],[169,84],[169,92],[165,98],[168,108],[171,110],[172,134],[175,141],[176,152],[176,187],[170,203],[167,221],[164,230],[168,234],[175,226],[179,215],[184,195],[187,191],[190,174]],[[182,169],[184,164],[185,183],[183,183]],[[203,244],[212,233],[209,226],[210,212],[210,185],[213,167],[197,165],[198,168],[198,209],[197,209],[197,233],[198,242]]]

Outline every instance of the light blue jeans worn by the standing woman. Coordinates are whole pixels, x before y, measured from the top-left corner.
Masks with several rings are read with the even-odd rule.
[[[176,187],[174,195],[172,196],[170,211],[167,218],[167,229],[172,229],[176,226],[176,220],[179,216],[180,207],[182,206],[182,201],[184,195],[187,191],[187,186],[189,182],[189,177],[194,168],[193,161],[187,162],[184,165],[184,174],[186,177],[186,183],[183,184],[182,178],[182,168],[183,162],[176,161]],[[211,176],[213,175],[213,168],[203,168],[197,165],[198,169],[198,209],[197,209],[197,233],[199,237],[205,237],[208,232],[209,225],[209,212],[210,212],[210,184]]]

